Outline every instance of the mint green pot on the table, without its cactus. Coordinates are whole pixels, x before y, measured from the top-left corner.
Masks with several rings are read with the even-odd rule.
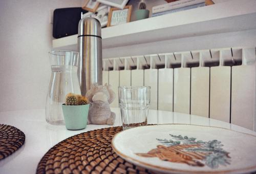
[[[74,106],[62,104],[66,128],[69,130],[86,128],[89,106],[90,104]]]

